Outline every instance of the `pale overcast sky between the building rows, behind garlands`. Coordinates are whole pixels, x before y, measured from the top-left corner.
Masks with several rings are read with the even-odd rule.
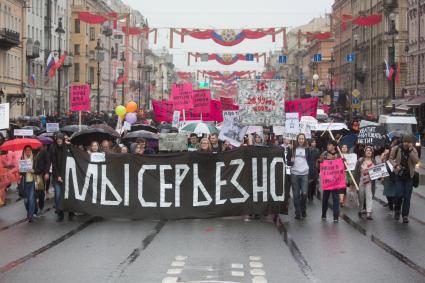
[[[160,50],[169,48],[169,28],[270,28],[297,27],[308,23],[314,17],[324,16],[331,12],[333,0],[123,0],[132,8],[139,10],[148,19],[150,27],[158,27],[158,44],[153,44],[150,37],[150,47]],[[255,3],[255,4],[254,4]],[[188,52],[207,53],[255,53],[268,52],[282,48],[282,35],[257,40],[245,40],[233,46],[224,47],[212,40],[197,40],[185,37],[185,43],[180,43],[178,36],[174,37],[174,64],[180,71],[196,70],[262,70],[263,62],[238,62],[224,66],[218,63],[198,62],[192,60],[187,66]]]

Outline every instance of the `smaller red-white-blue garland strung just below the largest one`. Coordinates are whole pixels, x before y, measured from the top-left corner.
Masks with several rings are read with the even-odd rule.
[[[195,62],[198,62],[198,59],[201,58],[201,61],[217,61],[222,65],[233,65],[238,61],[250,61],[249,57],[252,56],[252,61],[255,59],[257,62],[260,61],[260,58],[264,59],[264,64],[266,63],[266,53],[247,53],[247,54],[218,54],[218,53],[199,53],[199,52],[189,52],[187,54],[187,65],[190,66],[191,57],[195,58]],[[204,59],[205,58],[205,59]]]

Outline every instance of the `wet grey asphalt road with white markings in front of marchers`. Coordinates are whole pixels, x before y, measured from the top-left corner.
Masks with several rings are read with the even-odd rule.
[[[383,207],[374,220],[344,208],[322,222],[320,201],[303,221],[128,221],[78,216],[55,222],[50,209],[25,222],[22,201],[0,208],[0,282],[425,282],[425,187],[409,224]],[[47,207],[52,203],[48,202]]]

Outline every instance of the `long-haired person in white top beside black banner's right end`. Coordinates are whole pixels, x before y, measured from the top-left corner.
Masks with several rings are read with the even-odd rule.
[[[308,175],[309,175],[309,150],[307,148],[307,139],[304,134],[298,134],[296,146],[294,148],[294,156],[292,157],[293,165],[291,167],[291,183],[292,194],[294,196],[295,219],[307,217],[307,191],[308,191]]]

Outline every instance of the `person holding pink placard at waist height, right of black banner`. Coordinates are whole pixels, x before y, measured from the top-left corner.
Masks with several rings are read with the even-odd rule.
[[[337,143],[334,140],[329,140],[324,151],[319,158],[319,163],[324,160],[335,160],[341,158],[339,153],[336,151]],[[332,194],[332,210],[334,222],[339,221],[339,197],[338,190],[323,190],[322,195],[322,220],[326,220],[326,213],[329,207],[329,196]]]

